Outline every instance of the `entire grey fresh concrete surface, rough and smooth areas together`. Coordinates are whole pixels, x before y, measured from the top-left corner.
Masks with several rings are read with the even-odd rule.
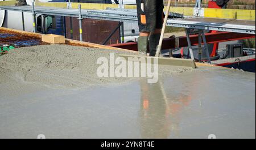
[[[117,50],[44,45],[0,57],[0,138],[255,138],[255,74],[160,67],[159,82],[98,78]]]

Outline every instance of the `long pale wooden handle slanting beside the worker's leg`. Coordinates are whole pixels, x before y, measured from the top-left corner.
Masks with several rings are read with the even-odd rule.
[[[163,37],[164,37],[164,32],[166,31],[166,24],[167,24],[167,19],[168,19],[168,15],[170,12],[170,8],[171,8],[171,0],[168,0],[166,16],[164,17],[164,23],[163,23],[163,28],[162,28],[159,44],[158,44],[158,49],[156,50],[156,54],[155,54],[156,57],[159,57],[161,49],[162,49]]]

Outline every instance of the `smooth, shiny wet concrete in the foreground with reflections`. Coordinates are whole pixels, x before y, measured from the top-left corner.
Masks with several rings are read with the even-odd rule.
[[[0,138],[255,138],[250,72],[204,68],[156,84],[0,94]]]

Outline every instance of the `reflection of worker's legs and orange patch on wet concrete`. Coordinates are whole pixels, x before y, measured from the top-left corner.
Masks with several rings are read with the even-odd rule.
[[[156,84],[147,84],[146,80],[141,80],[142,138],[168,138],[170,134],[177,134],[177,113],[189,101],[191,98],[182,93],[167,96],[162,80]]]

